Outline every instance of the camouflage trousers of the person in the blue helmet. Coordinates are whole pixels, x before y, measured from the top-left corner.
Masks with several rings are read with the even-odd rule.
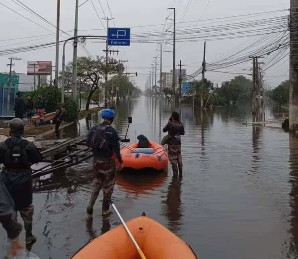
[[[110,198],[115,186],[116,165],[115,161],[103,161],[94,159],[93,161],[93,191],[88,204],[88,208],[93,208],[101,189],[103,189],[102,211],[110,208]]]

